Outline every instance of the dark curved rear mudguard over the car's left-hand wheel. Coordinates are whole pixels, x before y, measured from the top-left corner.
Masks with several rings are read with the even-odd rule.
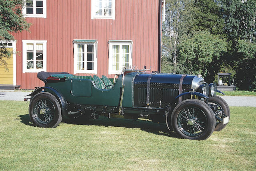
[[[42,86],[40,88],[37,88],[36,90],[34,90],[31,94],[28,94],[26,96],[31,96],[33,97],[34,95],[36,95],[37,93],[41,92],[41,90],[45,90],[45,89],[48,89],[50,91],[52,91],[52,95],[54,95],[57,100],[59,101],[60,103],[60,106],[61,106],[61,113],[63,116],[67,116],[68,115],[68,102],[64,99],[64,97],[62,96],[62,94],[56,90],[55,88],[52,88],[50,86]],[[33,98],[32,98],[33,99]],[[32,100],[31,99],[31,100]]]

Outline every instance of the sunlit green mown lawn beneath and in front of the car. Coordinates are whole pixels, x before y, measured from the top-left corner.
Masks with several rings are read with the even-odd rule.
[[[256,170],[256,108],[231,107],[205,141],[176,138],[164,124],[100,118],[36,128],[28,103],[0,101],[0,170]]]

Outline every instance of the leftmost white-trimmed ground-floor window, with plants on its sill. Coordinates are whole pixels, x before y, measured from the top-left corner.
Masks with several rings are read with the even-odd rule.
[[[22,40],[23,73],[46,71],[46,40]]]

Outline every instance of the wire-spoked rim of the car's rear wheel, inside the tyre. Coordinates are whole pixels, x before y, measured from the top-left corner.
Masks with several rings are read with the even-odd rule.
[[[54,104],[46,98],[38,100],[34,106],[33,115],[41,124],[50,123],[55,115]]]

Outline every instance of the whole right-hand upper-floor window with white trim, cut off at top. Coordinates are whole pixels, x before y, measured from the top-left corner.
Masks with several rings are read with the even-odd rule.
[[[115,0],[92,0],[92,20],[95,18],[115,20]]]

